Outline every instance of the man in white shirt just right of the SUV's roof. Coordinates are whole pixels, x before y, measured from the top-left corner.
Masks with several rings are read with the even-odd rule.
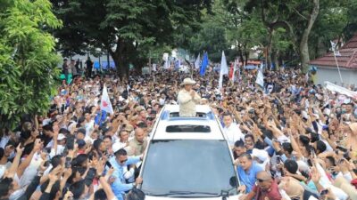
[[[245,140],[245,135],[240,131],[239,126],[233,122],[230,114],[223,114],[223,123],[223,132],[227,136],[229,147],[233,148],[237,140]]]

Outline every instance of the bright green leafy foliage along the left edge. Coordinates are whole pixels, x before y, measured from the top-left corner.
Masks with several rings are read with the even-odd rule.
[[[62,23],[47,0],[14,0],[0,10],[0,126],[44,113],[56,89],[59,57],[46,29]]]

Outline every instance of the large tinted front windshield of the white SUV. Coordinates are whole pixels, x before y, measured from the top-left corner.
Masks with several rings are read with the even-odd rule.
[[[148,196],[237,195],[225,140],[152,140],[142,177]]]

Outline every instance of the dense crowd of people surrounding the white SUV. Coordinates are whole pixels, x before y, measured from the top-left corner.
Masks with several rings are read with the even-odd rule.
[[[264,71],[264,87],[256,74],[241,69],[221,89],[214,71],[64,81],[46,116],[22,116],[2,130],[0,199],[144,199],[139,169],[156,116],[185,98],[220,119],[241,199],[357,199],[356,100],[299,69]],[[100,109],[104,84],[112,115]],[[195,116],[193,106],[180,115]]]

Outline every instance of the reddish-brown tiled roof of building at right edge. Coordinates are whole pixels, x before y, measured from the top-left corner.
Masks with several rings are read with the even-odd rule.
[[[336,56],[340,68],[357,68],[357,34],[353,36],[342,48],[339,49],[340,56]],[[316,60],[311,60],[310,65],[319,67],[335,67],[336,60],[333,52]]]

